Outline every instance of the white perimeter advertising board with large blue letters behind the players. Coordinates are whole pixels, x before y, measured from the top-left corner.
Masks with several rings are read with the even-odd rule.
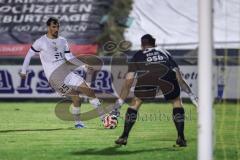
[[[60,94],[54,92],[50,87],[44,71],[40,65],[31,66],[28,71],[28,77],[21,80],[18,72],[21,66],[0,66],[0,98],[57,98]],[[89,85],[97,93],[98,97],[109,98],[116,97],[125,79],[126,70],[116,67],[111,71],[110,66],[103,66],[100,71],[93,74]],[[193,93],[197,95],[197,66],[180,66],[183,72],[183,77],[190,85]],[[236,87],[240,84],[237,81],[239,67],[229,66],[222,74],[222,70],[214,69],[214,97],[219,99],[239,99],[240,93]],[[85,72],[82,69],[77,69],[77,73],[85,77]],[[133,89],[132,89],[133,90]],[[133,92],[130,93],[133,96]],[[182,92],[182,97],[187,97],[187,94]],[[162,97],[161,95],[159,97]]]

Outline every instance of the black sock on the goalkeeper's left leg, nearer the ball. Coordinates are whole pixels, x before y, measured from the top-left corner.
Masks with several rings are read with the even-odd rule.
[[[137,119],[137,110],[128,108],[126,115],[125,115],[125,123],[124,123],[124,130],[122,133],[122,138],[127,138],[129,135],[129,132],[132,129],[132,126],[136,122]]]

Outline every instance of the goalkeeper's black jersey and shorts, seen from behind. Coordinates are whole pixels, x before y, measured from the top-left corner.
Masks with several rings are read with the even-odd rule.
[[[148,48],[138,51],[129,64],[129,72],[136,73],[136,97],[151,99],[159,90],[167,100],[179,96],[180,88],[173,70],[178,65],[166,50]]]

